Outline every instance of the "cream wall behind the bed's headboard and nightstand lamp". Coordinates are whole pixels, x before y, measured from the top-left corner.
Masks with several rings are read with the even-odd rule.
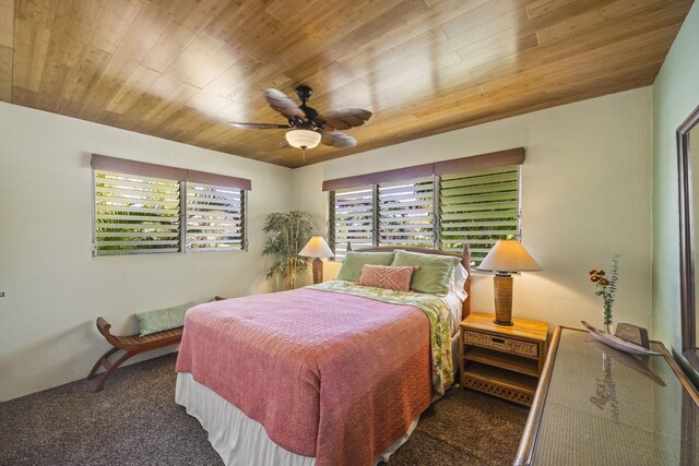
[[[356,133],[360,140],[360,130]],[[323,180],[518,146],[526,150],[523,243],[544,271],[516,277],[514,315],[552,325],[580,326],[580,320],[587,320],[601,326],[602,304],[588,271],[608,267],[620,253],[614,321],[650,327],[649,87],[294,170],[294,206],[310,211],[323,225]],[[336,267],[325,268],[331,275]],[[493,312],[489,275],[474,276],[472,296],[473,310]]]

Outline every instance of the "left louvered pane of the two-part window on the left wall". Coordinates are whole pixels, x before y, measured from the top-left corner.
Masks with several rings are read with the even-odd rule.
[[[95,170],[95,254],[177,252],[179,182]]]

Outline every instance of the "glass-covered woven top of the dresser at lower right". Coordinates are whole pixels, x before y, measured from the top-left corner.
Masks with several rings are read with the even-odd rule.
[[[631,356],[562,328],[532,464],[699,464],[698,419],[663,356]]]

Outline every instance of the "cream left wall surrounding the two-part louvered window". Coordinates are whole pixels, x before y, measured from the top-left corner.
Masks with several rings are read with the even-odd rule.
[[[292,170],[4,103],[0,128],[0,401],[84,378],[98,315],[125,334],[134,312],[266,290],[260,230]],[[250,251],[93,259],[92,153],[250,178]]]

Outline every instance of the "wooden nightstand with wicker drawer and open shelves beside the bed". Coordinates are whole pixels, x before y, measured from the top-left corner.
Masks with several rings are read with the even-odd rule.
[[[531,406],[546,359],[548,324],[473,312],[460,324],[461,386]]]

